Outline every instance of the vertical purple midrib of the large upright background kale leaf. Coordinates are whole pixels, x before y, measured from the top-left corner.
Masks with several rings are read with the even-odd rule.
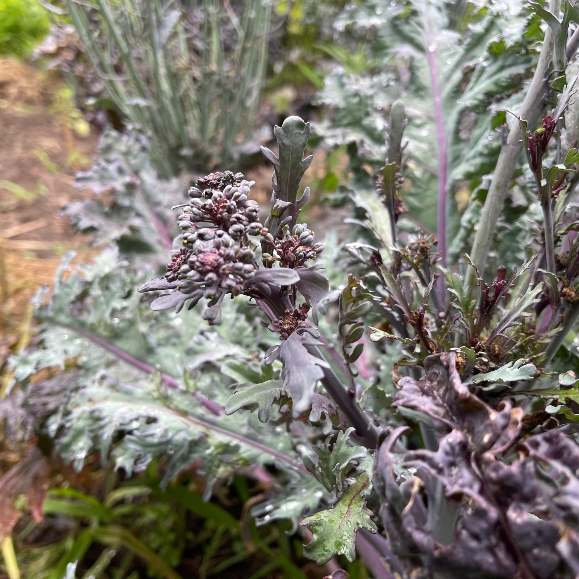
[[[438,251],[440,252],[441,265],[446,267],[446,197],[448,196],[448,150],[446,145],[446,135],[444,130],[444,116],[442,113],[442,96],[438,86],[438,74],[436,59],[434,57],[435,48],[433,46],[428,23],[425,19],[426,27],[426,60],[430,69],[430,80],[433,88],[434,99],[434,120],[437,132],[438,144],[438,210],[437,210],[437,239]],[[437,280],[438,293],[442,303],[444,303],[444,276],[439,276]]]

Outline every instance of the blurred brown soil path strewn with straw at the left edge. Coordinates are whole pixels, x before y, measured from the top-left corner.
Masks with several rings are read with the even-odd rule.
[[[65,252],[76,262],[94,255],[73,232],[61,207],[88,195],[74,174],[96,152],[98,133],[69,127],[74,110],[54,111],[60,79],[0,58],[0,362],[2,345],[18,334],[30,298],[50,283]],[[88,128],[88,127],[86,127]]]

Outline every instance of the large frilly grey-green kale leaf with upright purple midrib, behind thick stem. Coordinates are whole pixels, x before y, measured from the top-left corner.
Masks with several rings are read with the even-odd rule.
[[[374,173],[366,168],[377,171],[389,155],[383,135],[394,103],[402,99],[409,162],[401,167],[412,186],[403,191],[407,214],[401,225],[412,230],[417,221],[441,239],[437,204],[445,190],[448,259],[455,263],[472,243],[505,127],[516,120],[505,109],[519,107],[537,63],[539,24],[523,3],[471,2],[468,9],[422,0],[347,5],[333,23],[342,48],[332,52],[337,62],[318,92],[331,114],[313,124],[325,144],[345,147],[350,156],[355,192],[338,190],[334,199],[342,203],[347,193],[358,212],[373,213],[367,203]],[[498,224],[504,265],[522,261],[515,239],[530,233],[521,215],[534,211],[532,194],[519,178]]]

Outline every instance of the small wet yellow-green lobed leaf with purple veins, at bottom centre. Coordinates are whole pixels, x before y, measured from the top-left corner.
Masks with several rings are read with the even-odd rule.
[[[335,555],[346,555],[353,562],[356,558],[356,533],[358,529],[368,529],[376,533],[376,525],[366,508],[366,497],[372,490],[372,482],[367,474],[361,474],[351,483],[335,507],[308,516],[302,525],[309,527],[313,540],[304,546],[303,554],[324,565]]]

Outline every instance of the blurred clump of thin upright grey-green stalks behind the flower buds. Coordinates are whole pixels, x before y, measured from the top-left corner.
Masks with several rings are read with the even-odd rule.
[[[167,177],[239,155],[265,80],[270,3],[65,5],[110,106],[149,131],[157,170]]]

